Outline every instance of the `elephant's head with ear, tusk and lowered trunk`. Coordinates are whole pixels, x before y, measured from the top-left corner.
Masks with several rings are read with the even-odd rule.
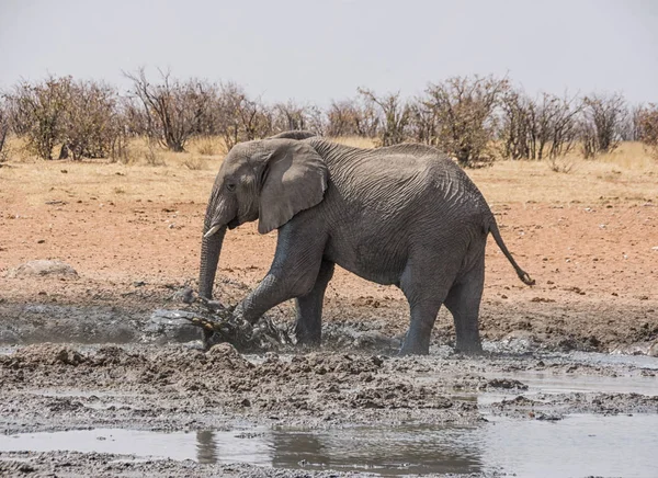
[[[258,219],[260,234],[322,201],[328,170],[315,148],[284,133],[236,145],[224,159],[208,201],[201,248],[198,294],[212,298],[226,228]]]

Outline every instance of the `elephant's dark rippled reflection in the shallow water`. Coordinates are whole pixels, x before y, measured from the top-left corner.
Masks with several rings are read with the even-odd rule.
[[[240,460],[238,455],[249,455],[250,463],[259,456],[262,464],[280,468],[468,474],[483,470],[476,433],[474,428],[457,426],[314,432],[286,429],[262,432],[258,437],[201,431],[196,433],[196,459],[231,463]]]

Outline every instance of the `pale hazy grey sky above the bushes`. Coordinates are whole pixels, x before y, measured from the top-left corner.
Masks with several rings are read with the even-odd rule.
[[[47,75],[125,89],[139,67],[320,105],[489,73],[658,102],[658,1],[0,0],[0,89]]]

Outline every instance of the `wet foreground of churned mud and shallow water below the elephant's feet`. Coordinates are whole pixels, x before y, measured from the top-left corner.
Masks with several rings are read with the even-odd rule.
[[[196,345],[4,349],[0,473],[653,476],[653,357],[504,343],[480,357]],[[634,458],[620,463],[622,448]]]

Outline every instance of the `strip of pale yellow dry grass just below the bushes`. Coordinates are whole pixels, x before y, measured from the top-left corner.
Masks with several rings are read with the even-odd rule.
[[[364,138],[336,140],[363,148],[373,146]],[[43,161],[25,153],[13,138],[13,156],[8,167],[0,168],[0,200],[11,202],[8,191],[21,191],[35,204],[90,197],[99,203],[207,200],[223,155],[201,155],[203,143],[192,143],[190,152],[157,148],[154,152],[161,166],[152,167],[148,164],[146,140],[136,139],[129,146],[133,157],[128,163]],[[565,161],[572,163],[568,173],[553,172],[548,161],[498,161],[467,173],[491,203],[658,203],[658,161],[640,144],[623,144],[595,160],[574,156]]]

